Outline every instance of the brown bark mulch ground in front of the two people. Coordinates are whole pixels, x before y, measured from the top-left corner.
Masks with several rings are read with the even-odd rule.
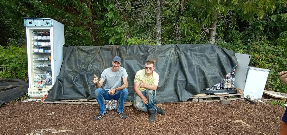
[[[125,107],[122,120],[115,111],[101,120],[96,104],[46,104],[29,101],[7,103],[0,107],[0,134],[196,134],[196,135],[259,135],[279,134],[284,108],[269,103],[253,105],[247,101],[163,103],[166,115],[156,114],[150,123],[149,114]],[[55,112],[52,115],[50,113]],[[49,132],[54,130],[56,133]],[[69,130],[66,132],[60,132]],[[59,132],[57,132],[59,131]]]

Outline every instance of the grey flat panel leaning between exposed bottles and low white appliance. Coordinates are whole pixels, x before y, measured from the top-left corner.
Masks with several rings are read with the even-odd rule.
[[[244,91],[246,73],[248,64],[250,62],[249,54],[235,53],[235,56],[238,60],[238,66],[236,67],[237,71],[235,72],[235,83],[234,86]]]

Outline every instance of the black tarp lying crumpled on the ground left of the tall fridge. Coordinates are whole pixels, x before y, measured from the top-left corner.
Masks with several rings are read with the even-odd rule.
[[[0,105],[25,95],[28,88],[29,84],[21,79],[0,78]]]

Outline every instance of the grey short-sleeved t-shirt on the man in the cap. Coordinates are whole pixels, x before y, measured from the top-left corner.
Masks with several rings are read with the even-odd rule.
[[[128,77],[127,71],[123,67],[119,67],[117,72],[113,72],[110,67],[105,69],[101,75],[101,79],[106,80],[104,89],[110,90],[122,85],[122,78]]]

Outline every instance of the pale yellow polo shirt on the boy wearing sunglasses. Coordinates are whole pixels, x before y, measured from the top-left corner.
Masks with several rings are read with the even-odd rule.
[[[152,71],[152,76],[148,79],[148,77],[145,74],[145,70],[142,69],[142,70],[137,71],[137,73],[135,74],[135,82],[140,83],[141,80],[143,80],[143,82],[145,84],[148,84],[148,85],[154,85],[154,84],[158,85],[159,76],[158,76],[158,73]],[[147,88],[139,87],[140,91],[144,91],[146,89]],[[156,91],[154,91],[154,92],[156,92]],[[154,95],[156,95],[156,94],[154,94]]]

